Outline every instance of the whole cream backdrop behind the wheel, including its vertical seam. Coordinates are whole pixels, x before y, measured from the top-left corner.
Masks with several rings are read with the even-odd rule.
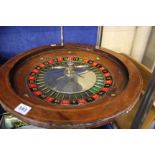
[[[141,62],[145,53],[151,26],[105,26],[102,47],[131,55]]]

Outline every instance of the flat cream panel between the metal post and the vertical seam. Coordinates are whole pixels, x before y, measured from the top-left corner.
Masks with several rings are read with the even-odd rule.
[[[130,55],[135,35],[134,26],[103,27],[102,46]]]

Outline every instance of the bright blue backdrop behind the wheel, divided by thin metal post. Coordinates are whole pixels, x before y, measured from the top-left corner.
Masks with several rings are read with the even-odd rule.
[[[65,26],[64,42],[96,44],[97,26]],[[60,26],[1,26],[0,62],[31,48],[60,43]]]

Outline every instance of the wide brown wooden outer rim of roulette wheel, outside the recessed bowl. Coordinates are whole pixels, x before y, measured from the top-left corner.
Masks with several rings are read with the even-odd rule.
[[[50,109],[46,107],[43,108],[43,106],[33,105],[33,103],[30,103],[14,92],[9,81],[9,73],[14,65],[22,58],[29,57],[32,54],[47,48],[51,50],[60,48],[83,48],[95,52],[104,51],[105,53],[117,58],[126,67],[129,73],[128,84],[120,95],[104,103],[102,100],[97,100],[96,104],[89,106],[81,106],[78,108],[53,108],[51,106]],[[29,124],[44,128],[85,128],[105,123],[131,110],[141,94],[143,85],[138,69],[126,57],[105,48],[95,49],[94,46],[80,44],[65,44],[64,46],[58,45],[55,47],[43,46],[21,53],[1,66],[0,77],[0,86],[2,88],[0,89],[0,100],[4,109]],[[14,108],[19,103],[30,105],[32,110],[26,116],[15,112]],[[49,115],[50,117],[48,118],[46,115]],[[58,115],[59,117],[57,117]],[[73,115],[76,119],[72,119]],[[54,117],[54,119],[51,119],[52,117]],[[60,117],[61,119],[59,119]]]

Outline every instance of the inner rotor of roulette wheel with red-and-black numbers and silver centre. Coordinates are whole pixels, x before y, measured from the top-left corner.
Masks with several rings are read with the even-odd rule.
[[[110,90],[112,83],[103,65],[77,56],[49,59],[35,66],[28,76],[32,94],[53,105],[94,102]]]

